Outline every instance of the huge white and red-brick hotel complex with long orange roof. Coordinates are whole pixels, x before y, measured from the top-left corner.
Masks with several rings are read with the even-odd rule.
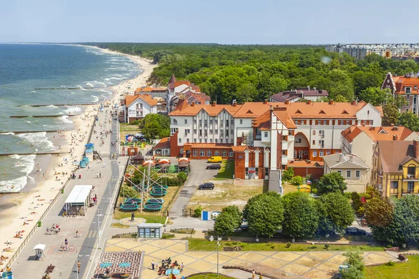
[[[170,156],[234,156],[236,178],[267,179],[271,170],[287,167],[297,175],[321,176],[323,156],[341,152],[341,131],[381,126],[382,110],[363,101],[188,105],[179,100],[169,116],[177,137]]]

